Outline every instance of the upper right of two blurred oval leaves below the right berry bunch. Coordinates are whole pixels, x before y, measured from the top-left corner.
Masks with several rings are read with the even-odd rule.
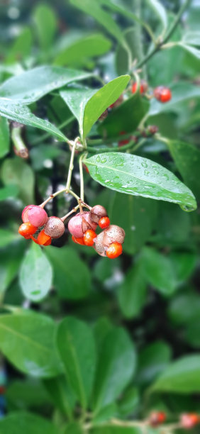
[[[165,296],[176,289],[176,279],[170,259],[151,247],[143,249],[143,264],[148,282]]]

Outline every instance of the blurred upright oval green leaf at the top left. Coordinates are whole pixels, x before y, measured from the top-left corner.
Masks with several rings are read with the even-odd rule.
[[[48,4],[38,4],[33,11],[33,20],[37,31],[40,48],[50,48],[57,28],[55,12]]]

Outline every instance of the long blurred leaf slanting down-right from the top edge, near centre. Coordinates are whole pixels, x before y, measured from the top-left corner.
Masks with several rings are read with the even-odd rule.
[[[121,29],[116,24],[116,21],[111,18],[109,13],[101,8],[99,1],[94,2],[93,0],[84,0],[83,2],[82,0],[70,0],[70,3],[81,9],[84,13],[93,16],[101,26],[106,28],[107,32],[111,33],[111,35],[116,38],[116,40],[123,41],[123,33],[121,32]]]

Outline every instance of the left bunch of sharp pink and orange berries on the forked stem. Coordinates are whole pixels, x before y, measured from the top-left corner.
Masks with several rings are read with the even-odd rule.
[[[23,209],[22,225],[18,233],[26,240],[33,240],[36,244],[50,245],[52,238],[60,238],[65,232],[65,225],[59,217],[49,217],[42,206],[28,205]],[[35,235],[35,236],[33,236]],[[35,238],[38,235],[37,238]]]

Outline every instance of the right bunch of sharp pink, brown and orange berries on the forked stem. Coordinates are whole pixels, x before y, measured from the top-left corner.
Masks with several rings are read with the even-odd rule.
[[[103,229],[96,235],[96,228]],[[78,213],[72,217],[68,229],[74,243],[93,246],[101,256],[114,259],[121,255],[125,232],[116,225],[111,225],[104,206],[95,205],[90,211]]]

